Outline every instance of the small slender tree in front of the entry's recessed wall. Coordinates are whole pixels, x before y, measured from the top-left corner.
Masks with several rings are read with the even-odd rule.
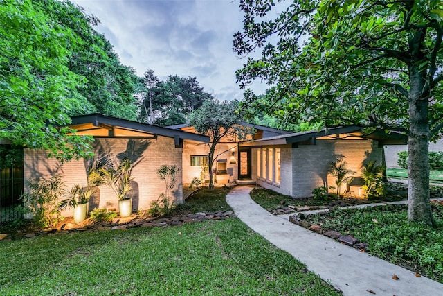
[[[208,167],[209,188],[213,189],[213,164],[215,159],[215,148],[222,139],[237,137],[245,139],[253,129],[242,127],[243,116],[238,112],[239,101],[220,102],[215,99],[203,102],[203,105],[190,114],[189,124],[200,134],[210,137]]]

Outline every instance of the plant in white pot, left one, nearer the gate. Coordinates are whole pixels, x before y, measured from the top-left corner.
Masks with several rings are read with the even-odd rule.
[[[98,167],[91,166],[88,169],[87,186],[82,187],[79,184],[75,184],[58,204],[59,209],[72,208],[74,222],[81,223],[88,216],[89,199],[96,192],[97,186],[102,184],[102,180],[102,174]]]

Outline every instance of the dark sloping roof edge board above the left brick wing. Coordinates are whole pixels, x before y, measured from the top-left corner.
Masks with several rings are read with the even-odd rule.
[[[173,130],[171,128],[163,128],[161,126],[150,125],[147,123],[140,123],[136,121],[129,121],[127,119],[118,119],[116,117],[107,116],[103,114],[89,114],[79,115],[71,117],[71,125],[77,125],[82,123],[92,123],[94,126],[99,126],[100,123],[120,126],[122,128],[129,128],[132,130],[141,130],[143,132],[150,132],[152,134],[158,134],[164,137],[186,139],[190,141],[199,141],[203,143],[209,143],[210,137],[202,134],[195,134],[192,132],[183,132],[182,130]]]

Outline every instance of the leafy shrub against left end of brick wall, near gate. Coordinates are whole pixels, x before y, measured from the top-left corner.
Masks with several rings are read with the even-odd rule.
[[[48,180],[29,180],[30,193],[21,195],[24,202],[25,214],[31,214],[35,225],[41,229],[51,228],[62,217],[57,208],[57,200],[64,193],[64,183],[60,175],[54,175]]]

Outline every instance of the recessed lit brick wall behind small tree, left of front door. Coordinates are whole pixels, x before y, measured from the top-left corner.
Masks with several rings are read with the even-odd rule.
[[[231,149],[232,150],[229,150]],[[234,155],[233,152],[234,151]],[[206,143],[192,144],[183,143],[183,186],[187,186],[192,182],[194,177],[200,178],[201,167],[191,166],[191,155],[208,155],[209,146]],[[221,155],[219,155],[221,153]],[[237,143],[218,143],[215,147],[215,156],[219,155],[217,159],[226,159],[226,168],[232,169],[233,175],[230,176],[230,182],[238,179],[238,152]],[[231,164],[230,162],[235,162]],[[217,161],[213,164],[213,172],[217,169]]]

